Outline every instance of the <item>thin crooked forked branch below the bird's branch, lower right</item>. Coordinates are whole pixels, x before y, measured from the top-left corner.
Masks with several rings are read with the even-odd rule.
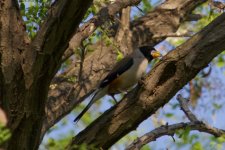
[[[180,129],[189,129],[191,131],[197,130],[199,132],[212,134],[216,137],[225,135],[225,130],[211,127],[207,125],[206,123],[199,121],[197,117],[188,108],[187,99],[183,98],[180,94],[177,96],[177,100],[180,103],[181,109],[183,110],[183,112],[186,114],[186,116],[191,122],[187,122],[187,123],[182,122],[182,123],[177,123],[173,125],[163,125],[161,127],[158,127],[152,130],[151,132],[141,136],[134,142],[132,142],[126,149],[139,150],[145,144],[155,141],[159,137],[162,137],[164,135],[173,136],[175,132]]]

